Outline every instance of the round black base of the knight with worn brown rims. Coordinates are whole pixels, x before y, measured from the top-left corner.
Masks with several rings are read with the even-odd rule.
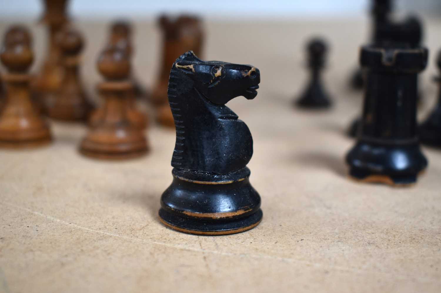
[[[248,168],[214,176],[174,168],[173,182],[161,197],[161,222],[176,231],[201,235],[234,234],[256,227],[263,214],[249,175]]]

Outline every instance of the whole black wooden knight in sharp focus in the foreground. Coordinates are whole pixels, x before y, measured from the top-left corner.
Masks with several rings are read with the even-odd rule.
[[[260,196],[247,163],[253,139],[225,103],[254,99],[259,70],[202,61],[192,51],[173,63],[168,99],[176,125],[173,182],[161,197],[161,222],[191,234],[233,234],[262,219]]]

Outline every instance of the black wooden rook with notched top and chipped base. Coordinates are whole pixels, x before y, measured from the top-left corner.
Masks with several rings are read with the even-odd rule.
[[[425,48],[361,50],[366,89],[358,142],[346,156],[349,175],[393,186],[415,183],[427,160],[416,127],[417,75],[427,64]]]

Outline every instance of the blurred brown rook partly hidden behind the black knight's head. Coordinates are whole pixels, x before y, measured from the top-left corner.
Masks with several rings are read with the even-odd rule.
[[[201,56],[204,33],[201,20],[188,15],[181,15],[178,18],[162,15],[159,18],[159,26],[163,36],[161,73],[153,88],[151,101],[156,108],[157,121],[161,125],[174,127],[175,123],[167,97],[170,66],[182,52],[191,50],[194,54]]]

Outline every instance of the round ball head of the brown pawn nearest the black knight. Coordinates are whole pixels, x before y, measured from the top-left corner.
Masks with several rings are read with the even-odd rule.
[[[130,74],[129,57],[124,50],[116,46],[109,46],[98,57],[97,68],[107,80],[127,79]]]

